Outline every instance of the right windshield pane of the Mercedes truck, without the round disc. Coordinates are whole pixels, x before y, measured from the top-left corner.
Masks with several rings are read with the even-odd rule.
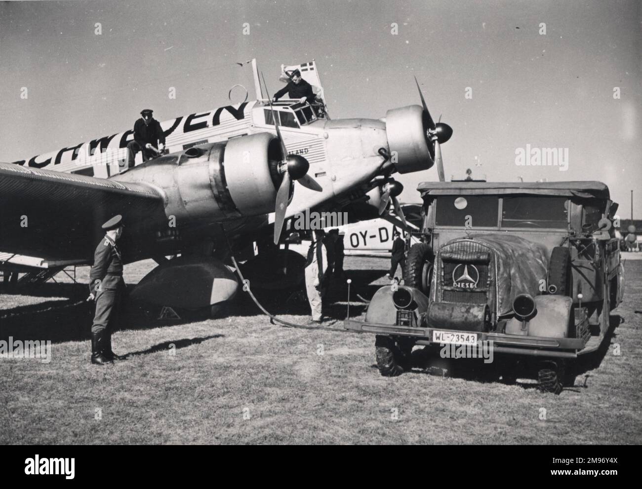
[[[505,197],[501,227],[566,228],[566,197]]]

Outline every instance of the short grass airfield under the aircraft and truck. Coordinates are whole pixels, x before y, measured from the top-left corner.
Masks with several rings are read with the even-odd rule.
[[[353,291],[371,296],[387,265],[347,258]],[[149,268],[127,266],[126,281]],[[128,361],[99,368],[85,287],[0,295],[0,339],[53,341],[51,363],[0,359],[0,443],[641,443],[642,261],[626,270],[608,340],[620,356],[611,346],[587,359],[559,396],[426,365],[381,377],[374,336],[272,325],[243,293],[215,320],[150,320],[130,307],[114,335]],[[87,269],[78,277],[86,283]],[[329,299],[343,319],[345,290]],[[305,304],[265,305],[309,318]],[[364,309],[353,298],[351,316]]]

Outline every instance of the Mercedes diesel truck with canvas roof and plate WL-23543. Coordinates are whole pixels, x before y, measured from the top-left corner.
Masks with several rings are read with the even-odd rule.
[[[382,375],[408,370],[414,345],[492,341],[504,380],[535,377],[560,393],[575,380],[574,361],[602,344],[623,294],[618,205],[607,186],[428,182],[418,190],[422,243],[410,248],[404,286],[381,287],[365,321],[347,320],[347,329],[377,334]]]

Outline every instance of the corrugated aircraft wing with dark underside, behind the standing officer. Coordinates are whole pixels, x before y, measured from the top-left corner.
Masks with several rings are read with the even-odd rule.
[[[44,259],[91,262],[101,225],[116,214],[130,245],[167,223],[164,196],[151,186],[8,163],[0,163],[0,209],[0,251]]]

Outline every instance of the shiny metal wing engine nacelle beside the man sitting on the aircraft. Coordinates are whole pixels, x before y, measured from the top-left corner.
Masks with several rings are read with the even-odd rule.
[[[153,185],[177,227],[274,212],[282,176],[279,140],[270,133],[236,137],[166,155],[114,177]]]

